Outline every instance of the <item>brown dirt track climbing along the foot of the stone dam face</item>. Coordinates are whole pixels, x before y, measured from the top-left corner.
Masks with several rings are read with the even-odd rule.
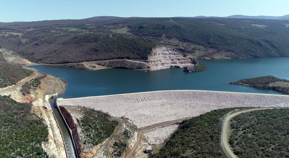
[[[177,120],[173,120],[173,121],[167,121],[167,122],[163,122],[163,123],[160,123],[160,124],[157,124],[157,125],[152,125],[152,126],[149,126],[149,127],[146,127],[144,129],[142,129],[140,132],[138,132],[138,139],[137,141],[135,142],[135,145],[132,147],[132,150],[129,152],[129,154],[126,156],[126,158],[130,158],[133,156],[133,153],[135,152],[135,150],[137,149],[138,145],[140,144],[141,142],[141,136],[142,136],[142,133],[146,130],[149,130],[149,129],[153,129],[153,128],[156,128],[156,127],[159,127],[159,126],[162,126],[162,125],[167,125],[167,124],[170,124],[170,123],[174,123],[174,122],[180,122],[180,121],[184,121],[186,119],[191,119],[192,117],[187,117],[187,118],[184,118],[184,119],[177,119]]]

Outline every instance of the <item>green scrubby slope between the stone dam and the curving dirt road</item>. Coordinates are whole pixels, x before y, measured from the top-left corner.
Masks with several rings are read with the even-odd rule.
[[[221,117],[232,110],[213,110],[183,121],[160,152],[150,157],[225,157],[220,145]]]

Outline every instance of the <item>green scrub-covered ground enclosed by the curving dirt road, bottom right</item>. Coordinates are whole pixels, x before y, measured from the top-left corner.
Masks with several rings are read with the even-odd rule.
[[[239,157],[288,157],[289,109],[256,110],[232,119],[229,139]]]

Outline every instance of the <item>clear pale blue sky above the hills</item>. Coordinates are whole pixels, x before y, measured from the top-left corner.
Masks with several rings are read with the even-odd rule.
[[[0,22],[95,16],[194,17],[235,14],[283,16],[289,0],[1,0]],[[4,2],[3,2],[4,1]]]

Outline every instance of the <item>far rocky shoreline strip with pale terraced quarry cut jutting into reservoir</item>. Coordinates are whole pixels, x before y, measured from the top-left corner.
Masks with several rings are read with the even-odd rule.
[[[158,45],[152,49],[147,60],[137,59],[110,59],[100,61],[88,61],[71,64],[53,64],[57,67],[73,67],[76,69],[100,70],[104,68],[124,68],[139,71],[154,71],[166,68],[184,67],[185,72],[204,71],[207,67],[200,61],[196,61],[176,49]]]

